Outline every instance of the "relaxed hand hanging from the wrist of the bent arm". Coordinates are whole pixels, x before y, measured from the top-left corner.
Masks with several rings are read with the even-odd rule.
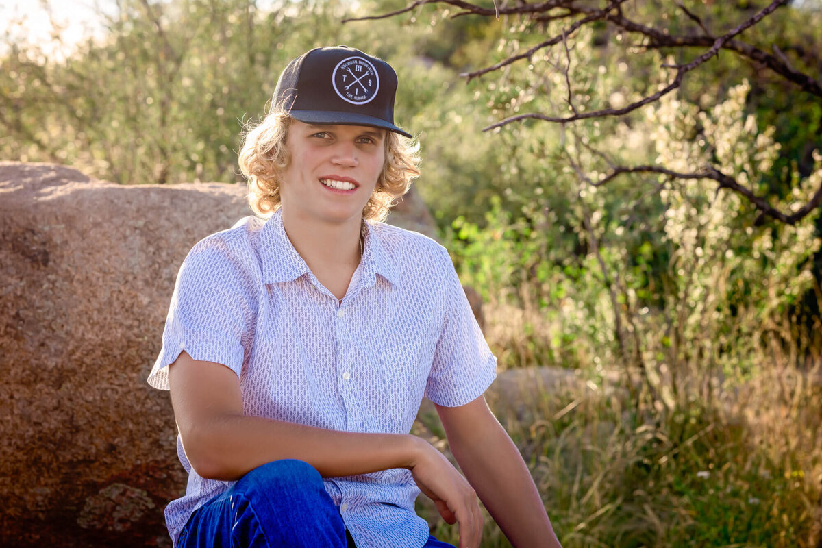
[[[447,523],[459,523],[459,548],[478,548],[483,537],[483,513],[477,493],[445,455],[418,438],[419,450],[409,470],[419,489],[434,501]]]

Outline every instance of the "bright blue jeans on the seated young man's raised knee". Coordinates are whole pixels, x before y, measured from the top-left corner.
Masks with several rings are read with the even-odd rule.
[[[181,548],[356,548],[320,472],[283,459],[248,472],[197,509]],[[454,548],[429,536],[423,548]]]

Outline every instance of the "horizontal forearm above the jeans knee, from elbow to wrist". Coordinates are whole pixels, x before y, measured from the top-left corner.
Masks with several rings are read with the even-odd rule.
[[[218,417],[182,434],[196,472],[219,480],[236,480],[280,458],[305,461],[322,477],[409,467],[419,441],[411,435],[334,431],[245,416]]]

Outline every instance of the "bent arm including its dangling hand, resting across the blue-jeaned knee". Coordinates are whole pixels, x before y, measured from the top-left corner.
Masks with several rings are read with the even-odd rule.
[[[182,445],[201,477],[236,480],[262,464],[298,458],[322,477],[404,467],[448,523],[460,548],[478,546],[483,519],[468,481],[439,451],[413,435],[343,432],[247,417],[237,375],[181,352],[169,366],[171,403]]]

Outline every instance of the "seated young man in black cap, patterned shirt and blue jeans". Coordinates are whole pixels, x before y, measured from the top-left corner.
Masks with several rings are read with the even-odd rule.
[[[149,377],[189,472],[175,546],[450,546],[420,490],[460,548],[480,543],[477,495],[515,546],[559,546],[483,398],[496,359],[446,250],[378,222],[418,175],[396,85],[345,46],[293,60],[240,154],[259,216],[182,264]],[[467,480],[409,435],[423,396]]]

